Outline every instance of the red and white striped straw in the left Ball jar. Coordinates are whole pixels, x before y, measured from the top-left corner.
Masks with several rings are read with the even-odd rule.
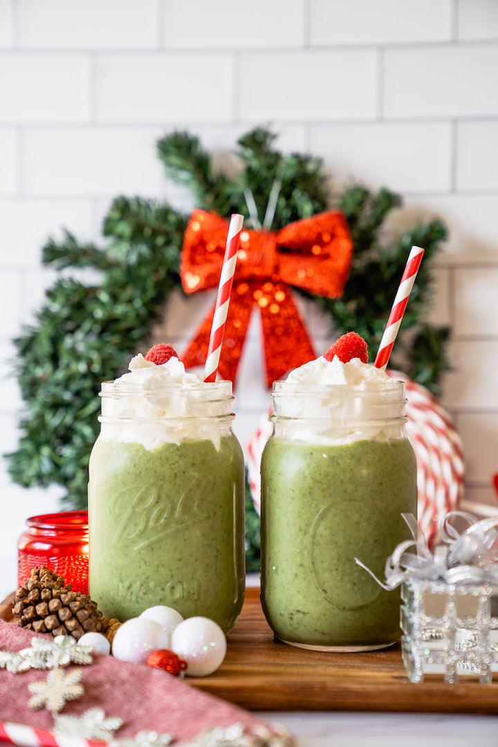
[[[231,284],[234,280],[235,265],[237,264],[237,251],[240,243],[240,232],[242,231],[243,215],[234,213],[228,226],[226,238],[225,256],[221,268],[218,295],[214,306],[213,323],[211,324],[211,335],[209,337],[208,356],[204,368],[204,380],[216,381],[218,365],[220,365],[220,353],[225,332],[225,322],[230,303]]]

